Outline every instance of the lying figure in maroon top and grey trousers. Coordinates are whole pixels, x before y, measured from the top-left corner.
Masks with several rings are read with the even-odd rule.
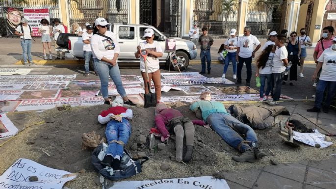
[[[187,117],[184,117],[179,110],[168,108],[163,103],[158,103],[155,109],[155,124],[161,133],[161,140],[168,140],[170,134],[176,135],[176,161],[189,162],[194,149],[194,124]],[[183,154],[183,137],[185,135],[187,150]]]

